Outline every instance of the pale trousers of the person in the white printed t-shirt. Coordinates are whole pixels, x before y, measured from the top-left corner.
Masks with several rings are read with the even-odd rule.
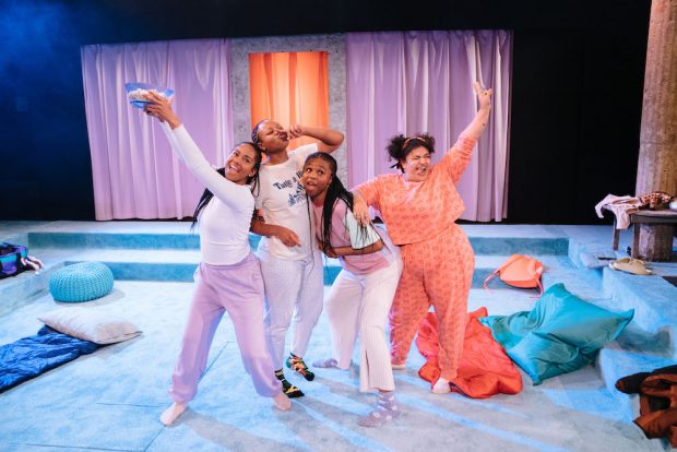
[[[259,251],[259,259],[265,284],[266,340],[275,369],[282,369],[289,325],[294,325],[290,352],[302,357],[322,313],[322,255],[314,250],[306,259],[292,261]]]

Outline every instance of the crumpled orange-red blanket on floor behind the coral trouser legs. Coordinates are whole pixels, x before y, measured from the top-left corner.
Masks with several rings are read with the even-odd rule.
[[[467,314],[463,355],[459,362],[459,374],[451,380],[452,391],[473,399],[487,399],[499,393],[516,394],[522,391],[522,376],[506,355],[503,347],[494,340],[491,330],[477,320],[486,316],[486,308]],[[428,312],[421,320],[416,345],[427,359],[418,374],[435,384],[440,377],[440,368],[437,361],[437,318],[433,312]]]

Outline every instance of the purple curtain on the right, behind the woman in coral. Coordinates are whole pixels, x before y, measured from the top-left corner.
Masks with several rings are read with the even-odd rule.
[[[346,43],[349,185],[395,173],[388,140],[428,132],[438,162],[476,111],[473,81],[494,88],[489,124],[459,182],[470,221],[506,217],[512,34],[351,33]]]

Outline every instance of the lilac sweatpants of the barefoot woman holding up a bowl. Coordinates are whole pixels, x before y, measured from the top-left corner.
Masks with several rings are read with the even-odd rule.
[[[250,253],[233,265],[201,262],[194,278],[181,352],[171,376],[171,399],[187,403],[195,396],[214,333],[226,311],[235,326],[242,364],[257,392],[266,397],[277,395],[282,384],[275,378],[265,344],[263,279],[256,255]]]

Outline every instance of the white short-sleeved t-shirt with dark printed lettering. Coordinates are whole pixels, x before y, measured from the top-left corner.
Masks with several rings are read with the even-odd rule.
[[[296,233],[301,246],[287,247],[277,237],[262,237],[259,251],[297,261],[310,255],[311,250],[317,248],[313,247],[313,215],[300,185],[306,157],[314,152],[318,152],[317,143],[306,144],[289,152],[289,159],[285,163],[261,165],[256,206],[261,210],[265,223],[284,226]]]

